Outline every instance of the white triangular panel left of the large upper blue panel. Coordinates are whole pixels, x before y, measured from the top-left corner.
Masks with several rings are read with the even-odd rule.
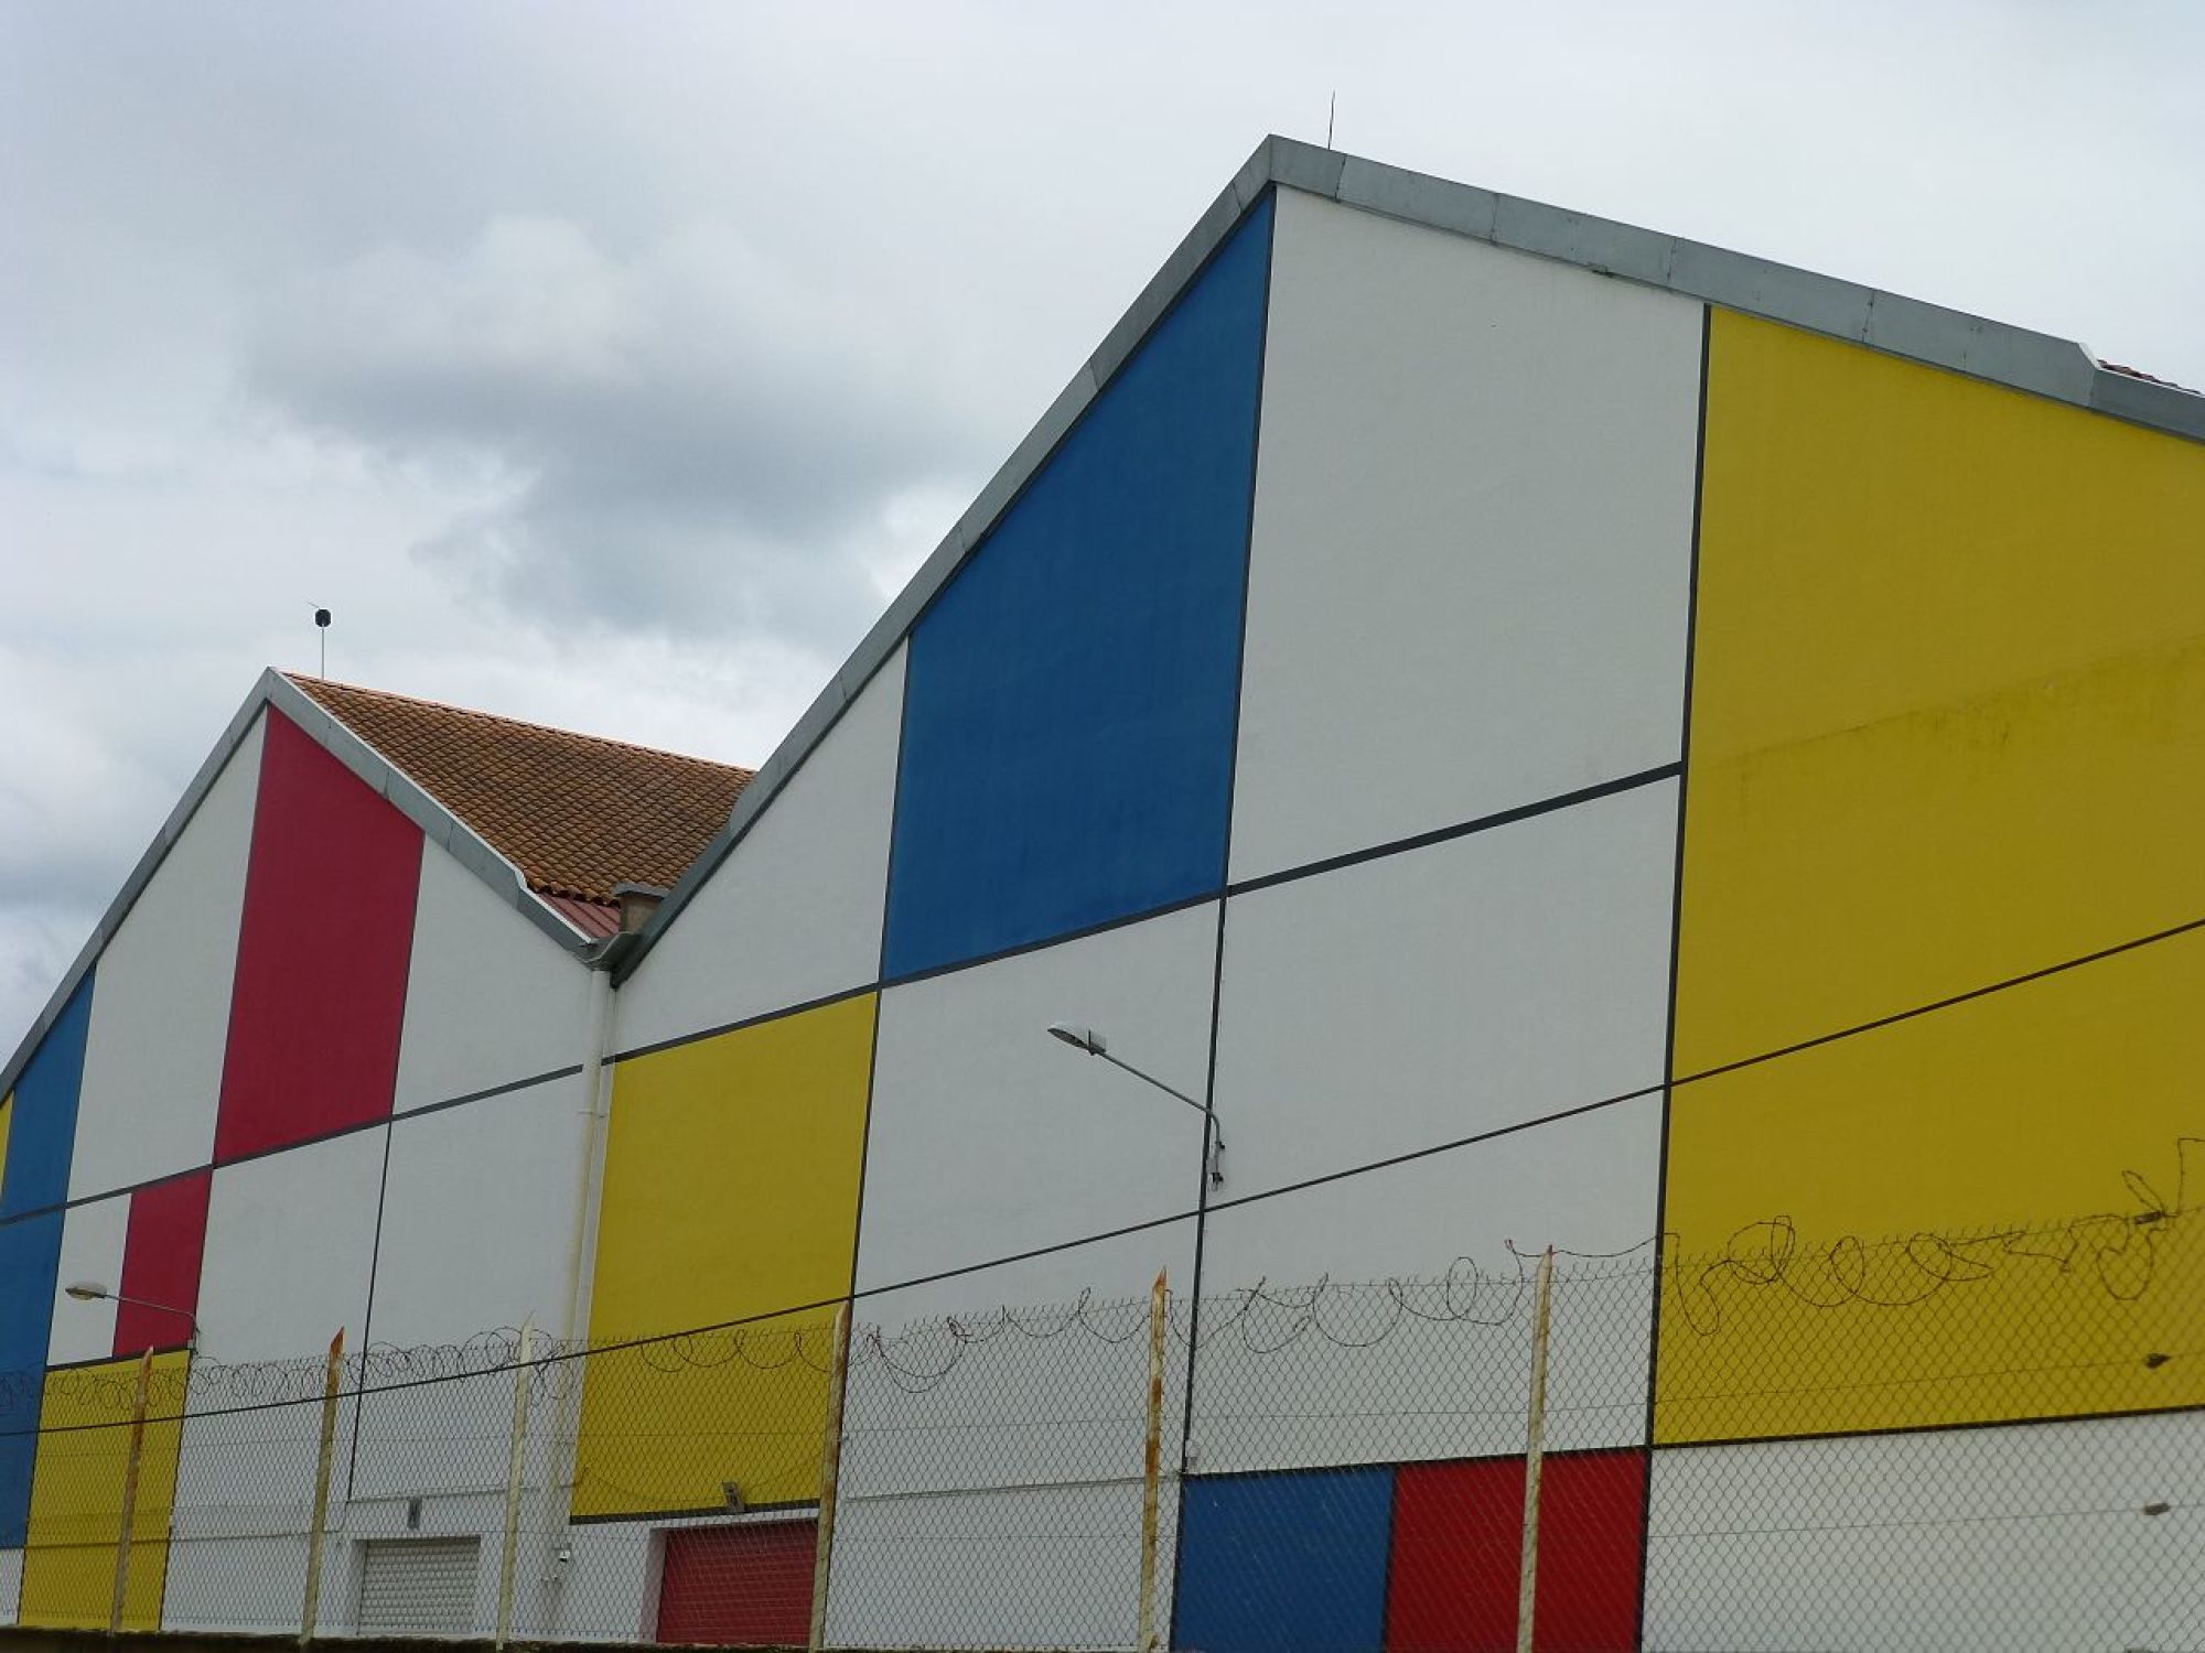
[[[622,1049],[880,974],[902,716],[897,648],[622,987]]]

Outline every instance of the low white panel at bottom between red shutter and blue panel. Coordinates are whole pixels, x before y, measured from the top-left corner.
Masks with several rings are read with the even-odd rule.
[[[1158,1543],[1171,1622],[1177,1488]],[[849,1499],[836,1516],[831,1646],[1133,1646],[1140,1481]]]

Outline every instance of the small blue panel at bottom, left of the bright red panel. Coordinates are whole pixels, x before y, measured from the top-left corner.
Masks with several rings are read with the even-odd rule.
[[[1180,1525],[1173,1646],[1376,1653],[1394,1468],[1195,1477]]]

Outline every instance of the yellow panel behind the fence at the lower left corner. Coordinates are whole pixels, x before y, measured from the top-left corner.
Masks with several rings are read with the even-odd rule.
[[[187,1360],[187,1353],[176,1351],[154,1355],[152,1362],[157,1422],[146,1424],[139,1455],[123,1629],[161,1627],[168,1523],[176,1501],[176,1455],[183,1444],[183,1424],[170,1397],[183,1393]],[[108,1627],[137,1366],[137,1360],[112,1360],[46,1373],[37,1468],[31,1477],[31,1534],[22,1554],[24,1624],[101,1631]],[[163,1406],[168,1415],[159,1422]]]

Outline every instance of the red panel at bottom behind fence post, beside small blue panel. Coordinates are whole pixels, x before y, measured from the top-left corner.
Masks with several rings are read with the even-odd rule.
[[[1539,1653],[1638,1644],[1645,1452],[1570,1452],[1539,1481]],[[1387,1646],[1515,1653],[1524,1459],[1405,1463],[1394,1481]]]

